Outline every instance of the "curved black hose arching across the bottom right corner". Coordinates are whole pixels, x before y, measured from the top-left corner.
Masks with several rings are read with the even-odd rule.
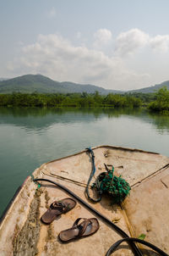
[[[157,248],[154,244],[150,243],[150,242],[146,242],[144,240],[141,240],[139,238],[134,238],[134,237],[126,237],[123,238],[121,240],[118,240],[117,242],[115,242],[111,248],[108,249],[108,251],[106,252],[106,256],[110,256],[116,249],[117,247],[122,243],[122,242],[138,242],[141,244],[146,245],[147,247],[153,249],[155,252],[159,253],[161,256],[168,256],[168,254],[166,254],[165,252],[163,252],[160,248]]]

